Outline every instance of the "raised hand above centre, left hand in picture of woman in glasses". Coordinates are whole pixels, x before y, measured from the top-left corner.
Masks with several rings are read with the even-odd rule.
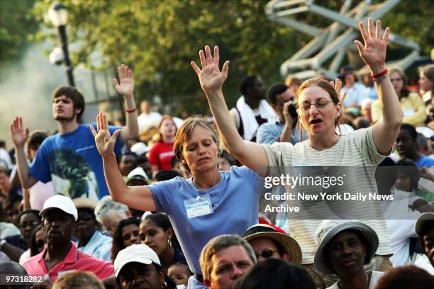
[[[201,59],[202,69],[200,69],[193,61],[190,62],[190,64],[199,77],[202,89],[205,93],[221,89],[223,83],[228,77],[229,61],[226,61],[223,64],[220,71],[218,68],[218,62],[220,60],[218,46],[214,46],[214,57],[211,55],[211,49],[208,45],[205,46],[205,52],[204,50],[199,51],[199,57]]]

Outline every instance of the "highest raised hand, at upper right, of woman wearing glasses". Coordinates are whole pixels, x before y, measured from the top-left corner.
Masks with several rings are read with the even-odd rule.
[[[368,19],[367,31],[363,22],[360,22],[359,25],[360,33],[362,33],[362,38],[365,41],[365,46],[358,40],[355,40],[355,45],[357,45],[360,57],[362,57],[362,60],[367,64],[372,74],[378,74],[385,68],[384,62],[386,61],[389,28],[386,28],[382,37],[382,21],[377,20],[377,28],[375,29],[375,32],[372,18]]]

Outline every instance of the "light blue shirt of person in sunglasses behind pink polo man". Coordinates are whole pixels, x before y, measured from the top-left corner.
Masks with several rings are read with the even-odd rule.
[[[75,244],[79,245],[79,242],[75,242]],[[87,242],[86,246],[79,247],[79,250],[83,253],[86,253],[92,257],[111,262],[111,246],[113,244],[113,240],[111,237],[102,234],[98,230],[94,232],[89,242]]]

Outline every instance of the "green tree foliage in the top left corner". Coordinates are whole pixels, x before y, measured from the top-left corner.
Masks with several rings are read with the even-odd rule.
[[[35,0],[0,1],[0,63],[18,57],[28,36],[35,33],[31,14]]]

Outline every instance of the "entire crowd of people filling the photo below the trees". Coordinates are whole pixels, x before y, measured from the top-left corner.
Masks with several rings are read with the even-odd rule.
[[[81,124],[82,94],[57,89],[56,134],[16,117],[13,153],[0,143],[1,274],[41,277],[23,288],[432,287],[434,64],[411,91],[385,67],[389,28],[369,18],[360,32],[363,83],[352,67],[268,90],[248,76],[230,110],[229,62],[206,46],[191,67],[212,116],[160,115],[148,101],[138,115],[126,65],[113,79],[125,126],[102,112]],[[330,218],[319,203],[303,217],[264,210],[266,178],[317,166],[362,167],[347,169],[348,188],[394,201],[337,202],[344,214]]]

